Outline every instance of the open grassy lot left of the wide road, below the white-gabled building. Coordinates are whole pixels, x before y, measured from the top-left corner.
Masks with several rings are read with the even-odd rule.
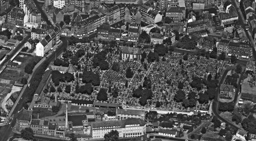
[[[23,77],[25,77],[27,74],[24,72],[25,66],[27,63],[33,60],[32,56],[17,56],[14,58],[14,61],[21,62],[20,65],[17,66],[17,68],[6,68],[1,74],[0,78],[6,79],[6,80],[13,80],[13,81],[21,81]],[[28,77],[28,76],[27,76]]]

